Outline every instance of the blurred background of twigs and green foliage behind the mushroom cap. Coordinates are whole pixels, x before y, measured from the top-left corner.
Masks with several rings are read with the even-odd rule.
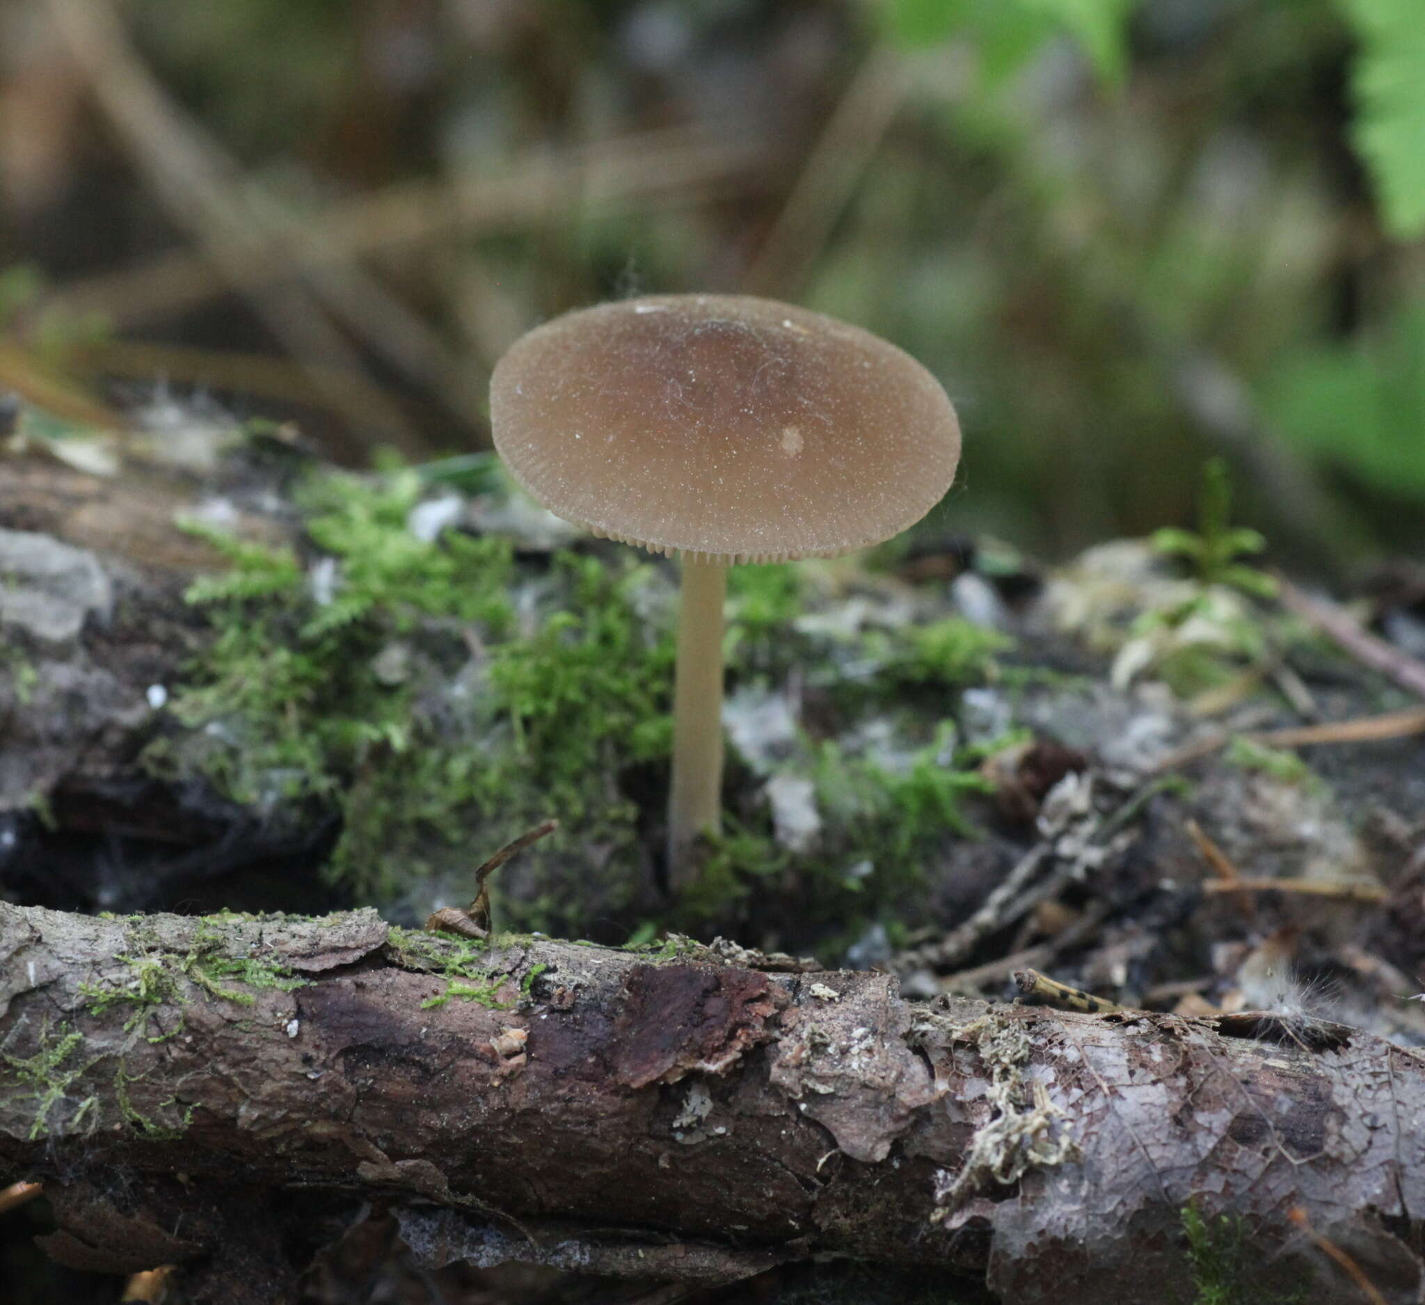
[[[1419,0],[7,0],[0,390],[487,444],[522,331],[747,291],[948,386],[925,529],[1425,540]]]

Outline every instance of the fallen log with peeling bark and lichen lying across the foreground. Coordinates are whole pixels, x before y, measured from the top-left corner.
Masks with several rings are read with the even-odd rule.
[[[343,1201],[395,1207],[428,1264],[727,1281],[839,1254],[1010,1302],[1186,1292],[1196,1202],[1315,1299],[1352,1288],[1312,1238],[1418,1299],[1416,1051],[665,950],[0,905],[0,1163],[44,1180],[51,1254],[184,1265],[198,1299],[219,1271],[221,1299],[284,1299],[274,1211],[318,1242]]]

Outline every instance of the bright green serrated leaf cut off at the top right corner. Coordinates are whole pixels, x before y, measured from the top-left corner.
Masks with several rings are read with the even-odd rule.
[[[1425,13],[1419,0],[1337,0],[1359,48],[1351,67],[1352,135],[1387,229],[1425,234]]]

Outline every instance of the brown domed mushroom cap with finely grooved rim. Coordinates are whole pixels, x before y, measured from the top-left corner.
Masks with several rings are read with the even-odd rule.
[[[834,318],[657,295],[522,336],[490,383],[494,446],[557,516],[704,561],[832,557],[913,524],[955,479],[935,378]]]

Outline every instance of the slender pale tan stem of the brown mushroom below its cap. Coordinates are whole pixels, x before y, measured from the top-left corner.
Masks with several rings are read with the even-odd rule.
[[[722,811],[722,600],[727,564],[683,558],[678,665],[673,690],[668,883],[694,878],[697,836],[717,833]]]

